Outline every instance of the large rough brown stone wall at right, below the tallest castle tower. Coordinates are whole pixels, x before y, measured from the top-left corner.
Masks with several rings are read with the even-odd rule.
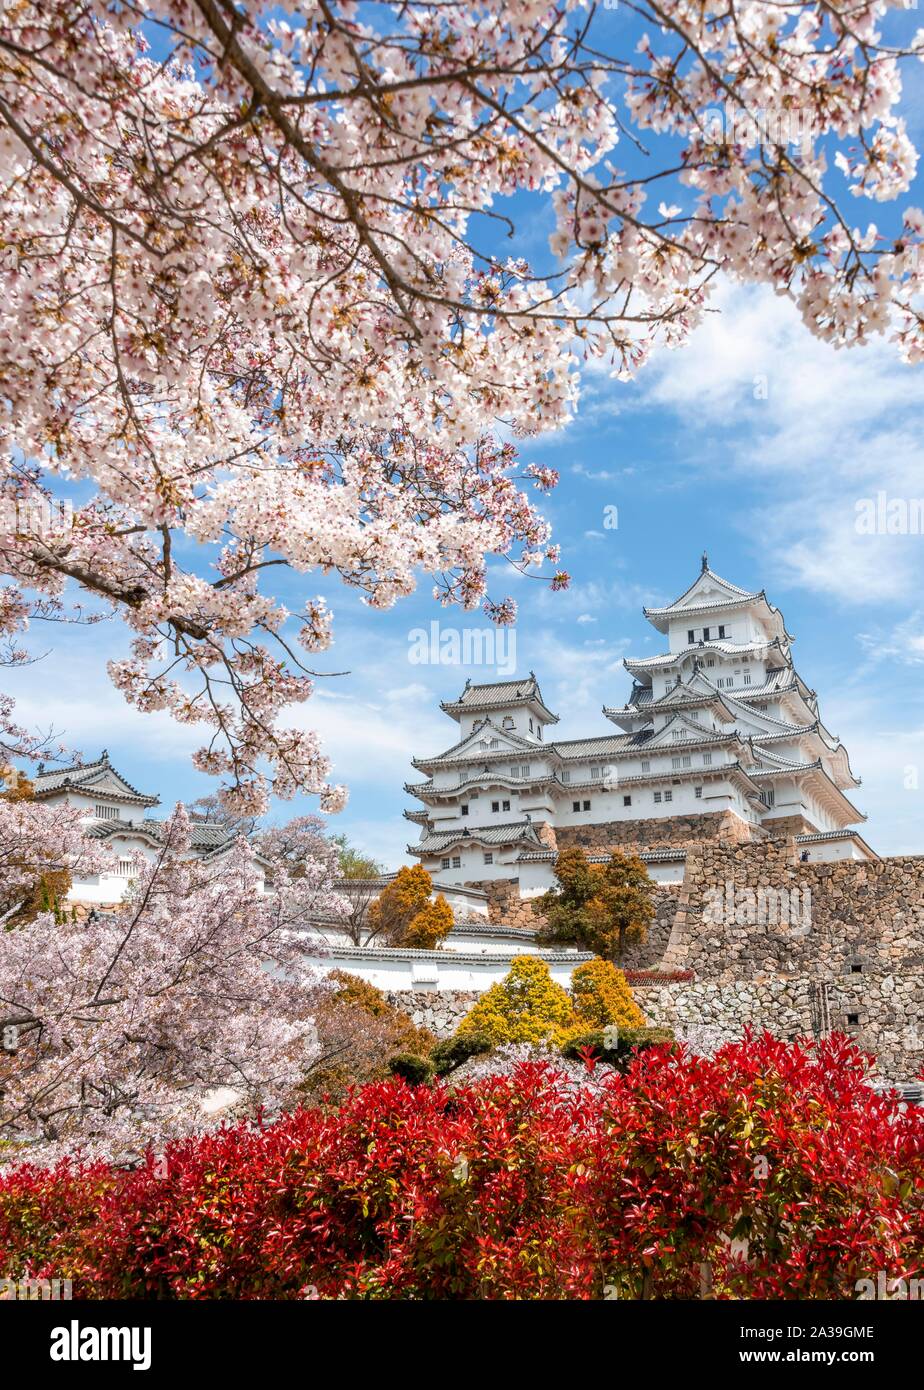
[[[823,994],[824,1024],[910,1079],[924,1062],[924,858],[800,863],[792,840],[700,845],[660,965],[696,981],[663,987],[653,1008],[795,1036],[820,1024]]]

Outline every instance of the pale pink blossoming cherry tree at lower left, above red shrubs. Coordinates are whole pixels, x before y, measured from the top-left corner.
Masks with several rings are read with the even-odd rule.
[[[0,802],[0,845],[11,812],[31,809],[47,813]],[[188,841],[179,808],[121,910],[57,924],[43,913],[6,934],[6,1158],[126,1161],[218,1123],[222,1093],[272,1111],[321,1058],[313,1009],[329,986],[306,967],[300,933],[346,912],[329,865],[296,877],[271,860],[261,894],[246,840],[218,867],[188,859]]]

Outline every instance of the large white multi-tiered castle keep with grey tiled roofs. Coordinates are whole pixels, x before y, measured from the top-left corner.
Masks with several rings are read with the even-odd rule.
[[[629,698],[603,709],[620,733],[550,738],[557,716],[532,671],[465,682],[440,705],[459,738],[413,760],[427,781],[406,784],[422,802],[404,812],[421,826],[409,853],[440,881],[517,878],[524,897],[550,885],[556,847],[625,844],[667,865],[682,853],[666,847],[720,821],[724,838],[795,835],[803,859],[877,858],[850,828],[866,817],[846,795],[859,785],[846,749],[763,589],[723,580],[703,556],[678,599],[643,612],[667,651],[624,660]]]

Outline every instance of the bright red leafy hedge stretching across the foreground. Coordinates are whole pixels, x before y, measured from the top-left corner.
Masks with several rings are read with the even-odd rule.
[[[132,1172],[8,1172],[0,1265],[75,1297],[855,1297],[924,1262],[924,1113],[863,1074],[767,1036],[579,1091],[383,1081]]]

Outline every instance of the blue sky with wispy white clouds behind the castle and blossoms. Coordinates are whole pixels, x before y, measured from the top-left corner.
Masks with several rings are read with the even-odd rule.
[[[610,18],[620,22],[618,11]],[[910,74],[905,104],[918,147],[923,72],[918,64]],[[918,188],[898,206],[923,200]],[[853,207],[861,227],[895,218],[881,206]],[[547,231],[536,218],[517,249],[538,253]],[[685,589],[707,549],[714,570],[766,588],[782,607],[795,663],[863,778],[853,799],[868,815],[867,838],[882,852],[924,852],[924,535],[856,528],[857,503],[877,492],[924,498],[924,371],[902,366],[886,342],[834,352],[768,291],[724,285],[714,307],[686,348],[657,354],[638,382],[591,370],[572,424],[524,443],[524,461],[561,474],[545,510],[572,587],[552,594],[492,566],[492,595],[513,592],[520,603],[517,673],[535,670],[561,717],[559,737],[611,730],[600,709],[628,694],[622,656],[664,641],[642,606]],[[616,528],[604,524],[607,507],[617,509]],[[402,819],[411,805],[402,784],[418,778],[410,759],[454,741],[439,701],[467,677],[495,674],[414,664],[409,635],[431,620],[443,628],[484,620],[439,607],[425,577],[385,614],[317,575],[278,592],[293,607],[329,598],[335,645],[325,669],[349,674],[318,681],[292,721],[320,730],[335,780],[350,787],[332,828],[395,867],[417,838]],[[117,621],[46,627],[32,645],[47,652],[43,660],[3,673],[21,721],[54,726],[88,759],[107,746],[164,808],[214,788],[189,762],[201,730],[139,714],[110,685],[104,663],[128,648]],[[272,819],[314,809],[297,801],[274,806]]]

